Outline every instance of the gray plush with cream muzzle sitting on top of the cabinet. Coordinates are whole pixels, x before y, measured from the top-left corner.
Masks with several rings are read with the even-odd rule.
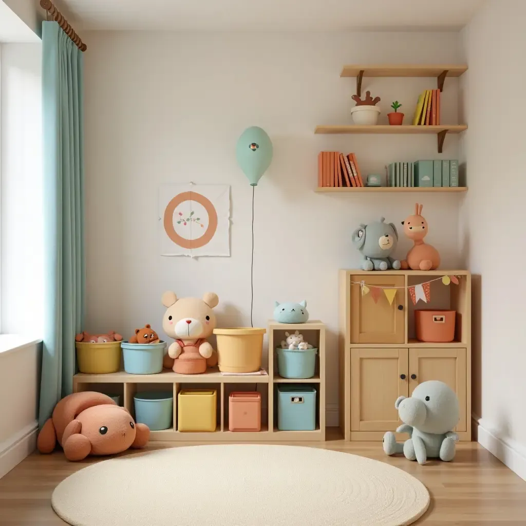
[[[361,252],[363,270],[400,269],[400,261],[391,257],[398,243],[398,232],[393,223],[379,221],[361,224],[352,234],[352,242]]]

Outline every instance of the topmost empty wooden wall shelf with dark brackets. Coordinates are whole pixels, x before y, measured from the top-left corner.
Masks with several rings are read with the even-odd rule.
[[[349,64],[343,66],[340,77],[356,77],[358,96],[363,77],[437,77],[442,91],[447,76],[460,77],[467,69],[466,64]]]

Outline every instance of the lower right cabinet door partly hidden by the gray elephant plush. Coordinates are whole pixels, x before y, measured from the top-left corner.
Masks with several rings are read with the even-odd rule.
[[[410,395],[419,383],[427,380],[447,383],[459,399],[460,420],[456,430],[467,430],[466,349],[409,349],[409,375]]]

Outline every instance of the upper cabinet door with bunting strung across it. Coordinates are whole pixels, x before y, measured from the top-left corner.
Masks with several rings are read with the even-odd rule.
[[[403,287],[404,276],[385,275],[378,271],[371,276],[351,276],[351,281],[365,281],[369,287]],[[351,343],[404,343],[406,291],[399,288],[395,299],[389,303],[383,290],[378,302],[371,292],[362,296],[359,285],[351,287]]]

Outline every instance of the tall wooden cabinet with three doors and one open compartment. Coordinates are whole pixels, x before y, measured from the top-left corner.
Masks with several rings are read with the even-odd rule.
[[[430,284],[430,301],[414,306],[407,287],[442,276],[459,284]],[[361,295],[360,285],[402,287],[389,304],[381,294]],[[400,425],[395,401],[411,396],[418,383],[441,380],[459,398],[460,440],[471,440],[471,274],[467,270],[340,270],[339,274],[340,428],[345,440],[381,440]],[[416,340],[414,311],[457,312],[455,338],[449,343]],[[401,434],[398,440],[407,439]]]

